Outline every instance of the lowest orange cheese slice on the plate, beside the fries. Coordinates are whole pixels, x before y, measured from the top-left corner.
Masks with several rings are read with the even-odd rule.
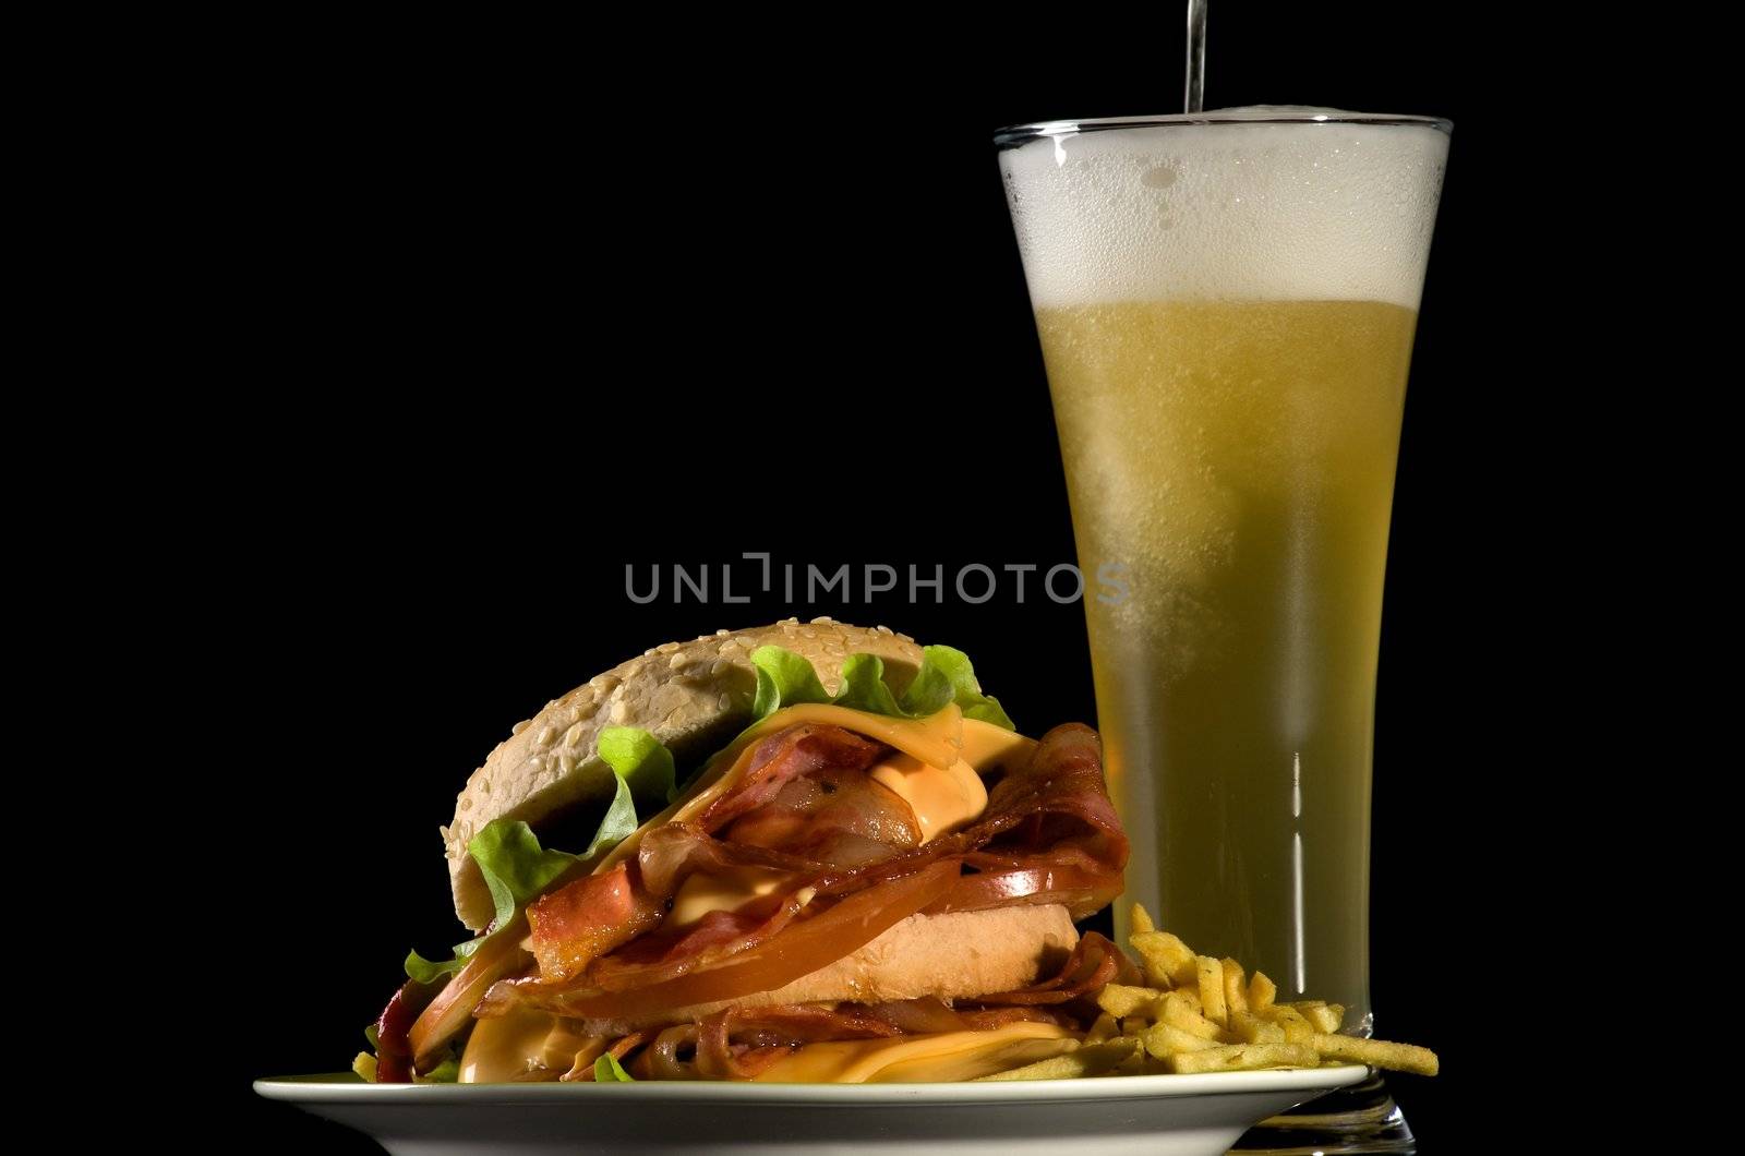
[[[1078,1041],[1052,1023],[1009,1023],[993,1032],[941,1032],[895,1039],[806,1044],[754,1079],[764,1084],[895,1084],[993,1076],[1071,1051]]]

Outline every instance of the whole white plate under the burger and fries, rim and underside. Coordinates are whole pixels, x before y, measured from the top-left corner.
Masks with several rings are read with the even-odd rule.
[[[400,1156],[452,1153],[1096,1153],[1218,1156],[1365,1067],[967,1084],[365,1084],[258,1079]]]

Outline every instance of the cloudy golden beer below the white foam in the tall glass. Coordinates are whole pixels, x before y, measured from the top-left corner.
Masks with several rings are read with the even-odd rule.
[[[1087,613],[1112,786],[1157,842],[1138,859],[1166,864],[1131,898],[1352,1008],[1415,320],[1358,300],[1037,314],[1080,564],[1127,590]]]

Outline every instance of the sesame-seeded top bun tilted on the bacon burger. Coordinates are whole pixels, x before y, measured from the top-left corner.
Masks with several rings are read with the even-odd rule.
[[[886,627],[852,627],[831,618],[787,618],[750,630],[715,630],[691,643],[667,643],[555,698],[485,756],[455,800],[454,822],[441,829],[448,845],[454,912],[473,931],[492,917],[490,892],[468,842],[494,819],[543,819],[612,796],[616,781],[597,744],[607,726],[640,726],[681,765],[726,746],[752,714],[757,672],[752,651],[785,646],[811,660],[825,690],[836,693],[843,660],[878,655],[895,693],[914,678],[921,648]]]

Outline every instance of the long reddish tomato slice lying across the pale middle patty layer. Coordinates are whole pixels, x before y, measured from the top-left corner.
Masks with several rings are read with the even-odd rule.
[[[956,878],[955,859],[934,863],[914,875],[859,891],[822,915],[789,924],[770,939],[714,967],[637,990],[567,997],[564,1015],[585,1020],[637,1018],[668,1008],[773,992],[845,955],[853,955],[879,938],[886,927],[946,894]]]

